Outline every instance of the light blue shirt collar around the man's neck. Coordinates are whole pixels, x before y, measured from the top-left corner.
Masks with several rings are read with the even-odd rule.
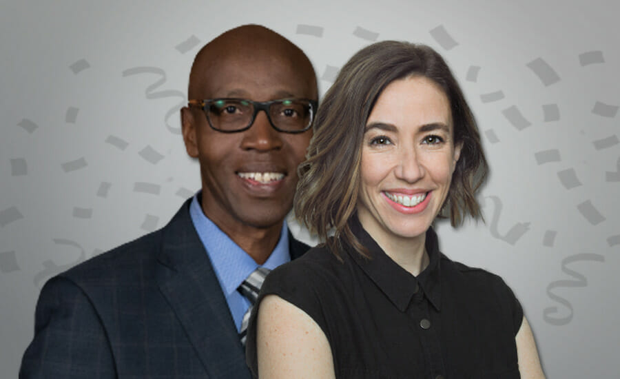
[[[259,265],[218,225],[205,216],[198,200],[200,194],[201,192],[198,192],[192,199],[192,203],[189,205],[189,215],[192,217],[196,232],[198,232],[198,236],[207,250],[207,256],[211,260],[220,287],[222,287],[225,295],[229,296]],[[274,269],[282,263],[289,262],[289,260],[291,260],[289,231],[285,221],[282,223],[280,240],[262,267]]]

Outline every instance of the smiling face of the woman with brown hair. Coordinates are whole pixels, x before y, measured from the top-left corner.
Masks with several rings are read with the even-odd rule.
[[[460,154],[450,103],[430,79],[390,83],[366,122],[360,222],[375,240],[426,232],[448,194]]]

